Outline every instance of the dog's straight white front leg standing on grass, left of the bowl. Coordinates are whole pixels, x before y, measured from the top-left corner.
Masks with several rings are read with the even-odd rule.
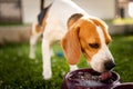
[[[42,62],[43,62],[42,76],[44,79],[50,79],[52,76],[51,51],[50,51],[50,41],[47,39],[42,40]]]

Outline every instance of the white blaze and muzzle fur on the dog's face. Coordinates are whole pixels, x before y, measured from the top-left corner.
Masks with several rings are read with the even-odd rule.
[[[99,72],[103,72],[103,71],[105,71],[104,62],[108,60],[112,60],[112,61],[114,61],[114,60],[109,50],[109,47],[105,43],[105,37],[103,34],[102,29],[100,27],[96,27],[96,30],[98,30],[98,33],[99,33],[99,37],[101,40],[101,49],[98,51],[96,55],[94,55],[92,57],[90,65],[94,70],[96,70]]]

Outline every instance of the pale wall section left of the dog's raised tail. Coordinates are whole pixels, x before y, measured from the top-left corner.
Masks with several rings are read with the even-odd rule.
[[[40,11],[40,0],[22,0],[22,22],[34,21]]]

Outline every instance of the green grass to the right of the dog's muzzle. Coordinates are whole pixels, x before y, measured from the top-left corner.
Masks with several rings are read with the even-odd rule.
[[[114,37],[110,47],[121,80],[124,82],[133,82],[133,36]]]

